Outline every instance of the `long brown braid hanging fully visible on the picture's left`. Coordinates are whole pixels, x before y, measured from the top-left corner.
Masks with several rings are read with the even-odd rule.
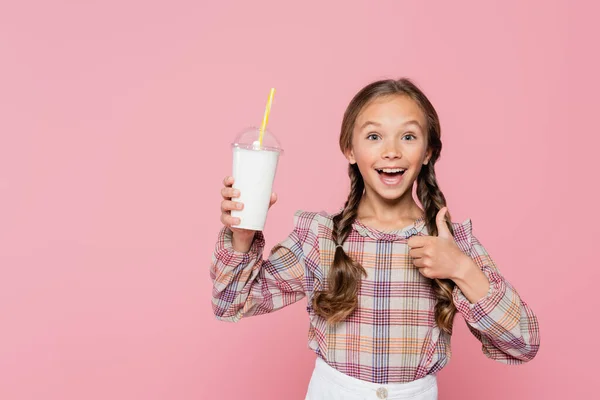
[[[356,219],[358,204],[364,191],[364,181],[358,166],[350,164],[350,194],[341,213],[333,217],[333,240],[342,244],[352,230]],[[358,305],[358,289],[361,277],[366,277],[366,271],[359,263],[352,260],[341,246],[336,247],[333,263],[329,270],[326,291],[316,292],[313,297],[315,312],[335,324],[352,314]]]

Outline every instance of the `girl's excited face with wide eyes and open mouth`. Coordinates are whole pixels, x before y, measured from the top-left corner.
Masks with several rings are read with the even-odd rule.
[[[412,185],[421,167],[429,161],[426,118],[407,96],[385,96],[373,100],[356,118],[348,161],[356,163],[367,193],[387,200],[412,196]],[[386,174],[384,168],[402,168]]]

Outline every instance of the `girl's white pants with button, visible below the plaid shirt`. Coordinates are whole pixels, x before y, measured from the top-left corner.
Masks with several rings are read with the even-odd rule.
[[[356,379],[317,357],[305,400],[437,400],[437,378],[427,375],[407,383],[378,384]]]

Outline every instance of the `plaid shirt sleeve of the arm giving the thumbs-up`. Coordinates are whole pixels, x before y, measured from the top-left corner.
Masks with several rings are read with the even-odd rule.
[[[470,228],[470,226],[469,226]],[[483,353],[506,364],[521,364],[535,357],[540,346],[538,320],[514,287],[500,274],[494,261],[471,234],[469,255],[490,282],[486,296],[471,303],[458,286],[453,300]]]

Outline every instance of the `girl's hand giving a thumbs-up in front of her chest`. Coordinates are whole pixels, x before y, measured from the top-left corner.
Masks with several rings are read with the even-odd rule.
[[[413,264],[426,278],[455,279],[472,261],[456,245],[444,218],[447,211],[448,207],[443,207],[435,218],[438,236],[413,236],[407,242]]]

